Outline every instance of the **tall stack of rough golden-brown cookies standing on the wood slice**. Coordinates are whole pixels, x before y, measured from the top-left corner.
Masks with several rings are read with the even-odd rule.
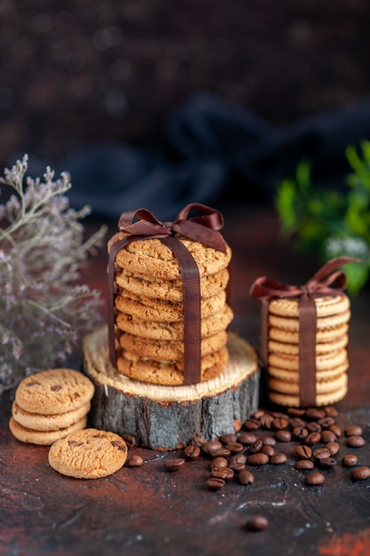
[[[115,234],[108,244],[124,237]],[[231,250],[215,250],[178,238],[192,254],[201,281],[201,381],[224,370],[226,301]],[[115,258],[114,329],[116,366],[124,375],[161,385],[184,383],[184,306],[180,268],[172,250],[158,239],[131,242]]]

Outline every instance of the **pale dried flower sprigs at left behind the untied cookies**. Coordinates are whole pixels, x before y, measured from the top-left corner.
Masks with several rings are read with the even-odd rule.
[[[0,394],[62,364],[102,320],[101,292],[76,282],[103,246],[106,226],[85,240],[79,220],[91,211],[69,207],[67,172],[54,180],[48,167],[42,182],[26,178],[27,170],[25,155],[0,178],[12,191],[0,204]]]

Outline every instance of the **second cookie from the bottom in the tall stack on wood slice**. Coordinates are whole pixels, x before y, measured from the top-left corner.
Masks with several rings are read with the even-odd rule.
[[[226,330],[221,330],[209,338],[203,338],[201,340],[201,356],[216,352],[226,344]],[[120,346],[127,352],[156,361],[177,361],[184,356],[183,341],[150,340],[123,332],[120,337]]]

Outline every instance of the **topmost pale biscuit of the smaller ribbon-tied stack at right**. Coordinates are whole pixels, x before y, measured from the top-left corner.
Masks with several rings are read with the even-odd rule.
[[[350,309],[350,299],[345,294],[342,296],[314,298],[314,301],[318,318],[332,314],[341,314]],[[299,301],[296,298],[272,299],[269,303],[269,313],[278,314],[279,316],[298,317]]]

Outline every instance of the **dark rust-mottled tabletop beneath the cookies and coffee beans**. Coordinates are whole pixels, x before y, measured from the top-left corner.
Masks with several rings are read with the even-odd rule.
[[[251,283],[260,275],[303,283],[318,263],[280,241],[272,210],[232,208],[224,218],[224,236],[233,251],[232,330],[257,346],[260,306],[249,298]],[[104,289],[105,256],[94,265],[91,283]],[[358,465],[370,465],[369,306],[367,288],[351,299],[349,391],[335,404],[337,425],[342,431],[360,425],[366,444],[349,448],[342,435],[338,465],[324,470],[326,481],[315,487],[305,484],[307,472],[294,467],[296,441],[279,444],[286,464],[253,469],[255,482],[249,486],[232,480],[211,491],[206,487],[209,457],[170,473],[163,460],[181,456],[181,450],[140,447],[132,450],[144,457],[141,467],[123,466],[104,479],[71,479],[51,469],[47,447],[12,437],[8,420],[14,393],[5,393],[0,399],[0,554],[370,554],[370,479],[353,481],[350,468],[341,464],[345,454],[355,453]],[[263,396],[261,405],[278,410],[269,408]],[[246,528],[255,514],[267,518],[264,531]]]

